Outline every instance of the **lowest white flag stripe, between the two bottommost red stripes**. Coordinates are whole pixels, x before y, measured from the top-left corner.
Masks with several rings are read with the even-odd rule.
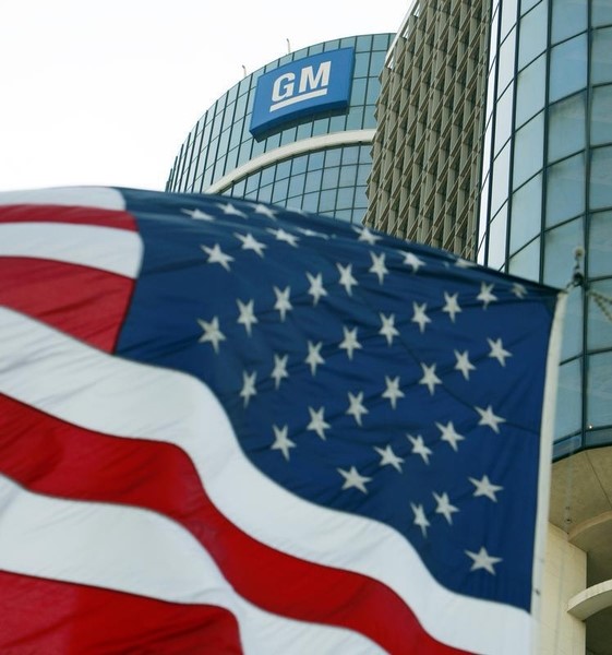
[[[245,602],[193,535],[163,515],[48,498],[1,475],[0,508],[2,570],[225,607],[237,617],[249,655],[382,653],[360,634],[286,619]]]

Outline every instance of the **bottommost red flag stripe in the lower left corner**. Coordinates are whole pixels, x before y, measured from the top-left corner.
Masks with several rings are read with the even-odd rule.
[[[0,571],[3,655],[242,653],[231,612]]]

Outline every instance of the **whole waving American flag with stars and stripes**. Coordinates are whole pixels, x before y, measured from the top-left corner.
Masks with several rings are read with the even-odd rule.
[[[1,194],[0,652],[528,653],[559,298],[268,204]]]

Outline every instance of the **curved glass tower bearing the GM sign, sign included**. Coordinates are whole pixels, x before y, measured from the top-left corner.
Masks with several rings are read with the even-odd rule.
[[[379,75],[393,37],[325,41],[245,76],[191,130],[166,190],[224,193],[360,223]]]

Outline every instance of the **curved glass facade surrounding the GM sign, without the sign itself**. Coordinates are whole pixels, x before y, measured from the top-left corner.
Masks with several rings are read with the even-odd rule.
[[[393,37],[372,34],[325,41],[291,52],[245,76],[191,130],[166,190],[214,190],[361,222],[372,165],[379,76]],[[255,139],[249,126],[259,78],[289,62],[339,48],[355,48],[348,108],[301,117]],[[350,139],[343,139],[348,133]],[[325,140],[332,135],[334,139]]]

